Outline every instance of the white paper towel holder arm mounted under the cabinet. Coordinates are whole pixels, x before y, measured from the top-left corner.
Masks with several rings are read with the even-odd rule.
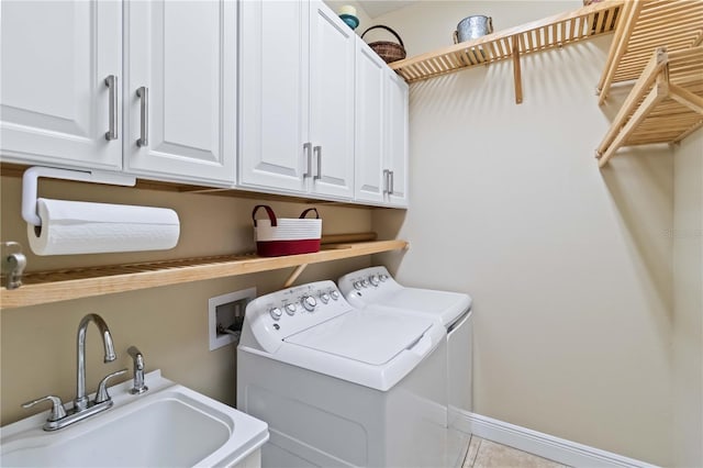
[[[22,218],[29,224],[37,227],[42,225],[42,219],[36,214],[37,179],[40,177],[123,187],[136,185],[136,177],[124,174],[101,170],[68,170],[42,166],[30,167],[22,176]]]

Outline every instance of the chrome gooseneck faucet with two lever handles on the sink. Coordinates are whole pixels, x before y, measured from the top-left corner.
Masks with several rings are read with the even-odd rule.
[[[22,408],[32,408],[43,401],[49,401],[52,403],[52,411],[49,412],[48,420],[44,424],[44,431],[56,431],[62,427],[66,427],[69,424],[81,421],[88,416],[100,413],[112,406],[112,399],[108,394],[108,381],[116,376],[121,376],[127,371],[127,369],[118,370],[116,372],[109,374],[98,385],[98,391],[96,393],[94,401],[89,401],[86,397],[86,332],[88,331],[88,324],[93,322],[102,336],[102,344],[105,349],[105,363],[111,363],[116,359],[114,353],[114,345],[112,343],[112,335],[110,328],[104,320],[98,314],[88,314],[82,317],[78,325],[78,378],[76,398],[74,399],[74,408],[66,410],[62,399],[55,395],[47,395],[37,400],[29,401],[22,405]]]

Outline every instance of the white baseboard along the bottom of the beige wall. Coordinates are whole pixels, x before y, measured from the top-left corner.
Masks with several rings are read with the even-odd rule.
[[[476,413],[461,412],[457,426],[477,437],[507,445],[572,467],[654,468],[655,465],[566,441]]]

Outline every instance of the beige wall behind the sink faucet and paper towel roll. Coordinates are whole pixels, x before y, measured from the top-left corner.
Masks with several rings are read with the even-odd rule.
[[[37,257],[29,252],[25,223],[20,216],[18,178],[1,181],[2,241],[16,241],[27,254],[27,270],[75,266],[187,258],[250,252],[252,208],[257,200],[172,193],[129,188],[96,187],[71,182],[41,181],[40,193],[48,198],[88,200],[174,208],[181,221],[181,237],[174,250]],[[260,201],[260,200],[259,200]],[[281,216],[297,216],[303,204],[270,202]],[[323,218],[323,233],[367,232],[370,211],[315,204]],[[369,258],[311,265],[298,283],[334,279],[369,266]],[[147,370],[161,369],[176,380],[230,404],[235,403],[236,357],[234,346],[209,350],[208,299],[256,287],[258,293],[280,289],[290,270],[246,275],[211,281],[154,288],[136,292],[9,309],[0,312],[0,424],[29,414],[20,404],[57,394],[68,401],[76,393],[76,330],[87,313],[100,314],[110,326],[119,359],[103,364],[97,328],[88,331],[88,389],[93,391],[107,374],[132,367],[126,348],[136,345],[144,353]]]

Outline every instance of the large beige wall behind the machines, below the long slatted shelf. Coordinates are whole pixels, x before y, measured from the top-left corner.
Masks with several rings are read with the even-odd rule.
[[[456,23],[498,29],[580,1],[421,2],[378,18],[415,55]],[[411,241],[409,285],[475,299],[475,411],[659,465],[672,464],[673,159],[593,151],[623,93],[594,87],[610,37],[411,86],[411,209],[379,213]]]

